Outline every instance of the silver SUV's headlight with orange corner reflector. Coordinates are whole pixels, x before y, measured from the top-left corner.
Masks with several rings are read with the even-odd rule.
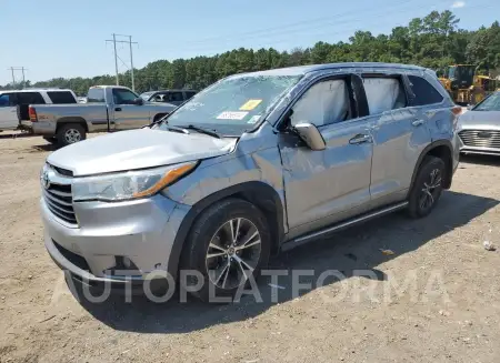
[[[100,177],[76,178],[71,188],[73,200],[123,201],[149,196],[173,184],[197,163],[194,161]]]

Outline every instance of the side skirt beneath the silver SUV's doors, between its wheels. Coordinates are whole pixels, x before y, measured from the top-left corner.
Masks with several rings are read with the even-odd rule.
[[[293,239],[291,241],[284,242],[281,245],[281,251],[288,251],[288,250],[294,249],[294,248],[297,248],[299,245],[306,244],[308,242],[312,242],[312,241],[317,240],[318,238],[320,238],[320,236],[322,236],[324,234],[329,234],[329,233],[332,233],[332,232],[338,232],[340,230],[347,229],[347,228],[352,226],[354,224],[359,224],[359,223],[369,221],[371,219],[374,219],[374,218],[378,218],[378,216],[381,216],[381,215],[384,215],[384,214],[389,214],[389,213],[399,211],[401,209],[404,209],[407,205],[408,205],[408,202],[401,202],[401,203],[398,203],[398,204],[392,204],[392,205],[389,205],[389,206],[384,206],[382,209],[374,210],[374,211],[369,212],[367,214],[362,214],[362,215],[356,216],[353,219],[343,221],[341,223],[328,226],[326,229],[322,229],[322,230],[319,230],[319,231],[316,231],[316,232],[311,232],[311,233],[301,235],[301,236],[299,236],[297,239]]]

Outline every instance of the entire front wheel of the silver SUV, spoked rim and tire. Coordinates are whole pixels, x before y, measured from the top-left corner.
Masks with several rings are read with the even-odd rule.
[[[262,212],[253,204],[228,199],[207,209],[194,223],[182,253],[181,269],[194,270],[202,286],[192,292],[210,298],[233,296],[268,264],[271,238]],[[187,281],[188,286],[197,281]]]

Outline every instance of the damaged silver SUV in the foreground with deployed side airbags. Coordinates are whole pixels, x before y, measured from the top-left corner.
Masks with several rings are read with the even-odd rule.
[[[231,295],[271,253],[396,210],[429,214],[458,165],[459,111],[414,65],[236,74],[149,128],[49,155],[46,246],[90,285],[194,270],[197,296]]]

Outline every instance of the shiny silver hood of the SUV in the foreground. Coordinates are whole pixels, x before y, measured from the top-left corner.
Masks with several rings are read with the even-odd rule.
[[[74,177],[92,175],[213,158],[231,152],[237,140],[148,128],[88,139],[53,152],[47,161]]]

